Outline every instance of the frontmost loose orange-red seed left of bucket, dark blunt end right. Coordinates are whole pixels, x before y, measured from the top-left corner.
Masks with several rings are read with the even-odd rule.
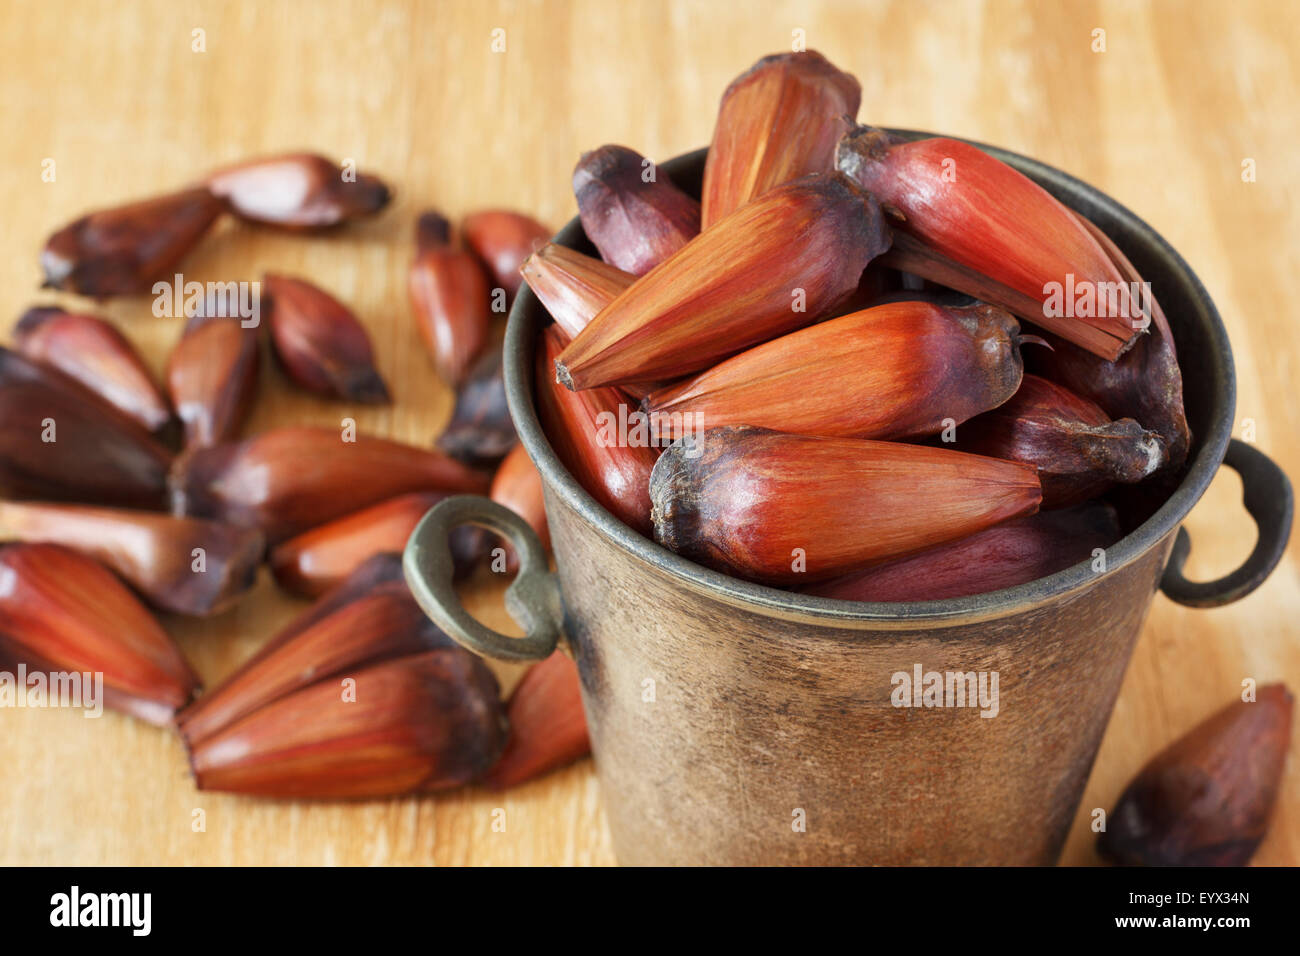
[[[486,771],[506,730],[491,671],[460,648],[358,667],[295,691],[192,748],[199,790],[377,797]]]

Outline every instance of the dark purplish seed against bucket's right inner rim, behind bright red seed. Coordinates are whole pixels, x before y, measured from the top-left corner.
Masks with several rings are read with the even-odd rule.
[[[1078,217],[1106,250],[1127,282],[1141,276],[1110,237]],[[1114,418],[1131,418],[1160,432],[1167,449],[1167,467],[1176,471],[1187,460],[1191,432],[1183,411],[1183,375],[1178,368],[1174,334],[1160,302],[1150,298],[1150,326],[1117,362],[1106,362],[1060,338],[1053,350],[1036,350],[1031,367],[1091,398]]]

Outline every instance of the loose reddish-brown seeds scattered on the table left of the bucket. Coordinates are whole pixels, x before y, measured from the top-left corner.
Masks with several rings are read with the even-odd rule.
[[[46,285],[96,299],[148,293],[226,213],[317,232],[389,198],[378,178],[321,156],[244,163],[60,229],[42,255]],[[484,662],[420,611],[400,562],[415,524],[448,494],[490,490],[545,531],[493,316],[549,234],[488,211],[463,221],[462,245],[442,216],[420,219],[411,303],[439,373],[460,389],[437,450],[324,428],[242,434],[264,338],[299,388],[393,401],[365,326],[302,278],[264,277],[257,321],[238,284],[194,295],[161,385],[108,320],[29,310],[0,349],[0,670],[101,672],[108,706],[177,726],[203,790],[507,787],[586,753],[572,661],[534,666],[503,704]],[[507,570],[484,532],[459,529],[452,544],[463,572],[489,558]],[[315,604],[195,700],[165,615],[226,610],[263,562]]]

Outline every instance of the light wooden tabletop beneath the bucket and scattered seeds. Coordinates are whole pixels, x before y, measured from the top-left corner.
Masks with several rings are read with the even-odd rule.
[[[95,207],[183,185],[218,163],[315,148],[393,182],[381,217],[330,238],[226,225],[187,278],[281,271],[350,302],[369,325],[391,408],[347,408],[266,378],[251,429],[337,424],[428,442],[451,397],[417,343],[404,293],[412,224],[504,206],[558,228],[569,173],[604,142],[655,159],[706,144],[727,82],[793,31],[862,82],[862,118],[997,143],[1058,165],[1135,209],[1199,271],[1239,376],[1238,423],[1300,476],[1300,16],[1232,3],[0,3],[0,328],[38,294],[36,255]],[[490,49],[494,29],[506,51]],[[1093,52],[1093,30],[1105,52]],[[194,52],[203,30],[205,52]],[[1244,159],[1257,181],[1242,181]],[[56,181],[42,163],[56,161]],[[68,302],[75,302],[69,299]],[[178,334],[147,298],[103,307],[161,368]],[[1253,544],[1240,483],[1218,477],[1188,520],[1192,574],[1218,576]],[[1256,594],[1188,610],[1157,597],[1063,860],[1092,864],[1088,812],[1239,693],[1243,678],[1300,689],[1300,544]],[[473,606],[500,626],[491,583]],[[303,602],[269,579],[212,620],[168,620],[205,682]],[[512,675],[504,675],[508,680]],[[991,767],[991,771],[996,769]],[[5,864],[610,864],[590,762],[506,795],[354,805],[195,791],[174,735],[105,714],[0,714]],[[493,832],[494,808],[507,812]],[[194,832],[192,810],[207,829]],[[1300,862],[1292,752],[1261,864]]]

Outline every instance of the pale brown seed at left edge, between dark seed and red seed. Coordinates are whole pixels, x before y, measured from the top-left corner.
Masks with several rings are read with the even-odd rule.
[[[0,537],[81,551],[116,571],[155,607],[200,615],[225,610],[247,592],[265,551],[261,535],[251,528],[43,502],[0,502]]]

